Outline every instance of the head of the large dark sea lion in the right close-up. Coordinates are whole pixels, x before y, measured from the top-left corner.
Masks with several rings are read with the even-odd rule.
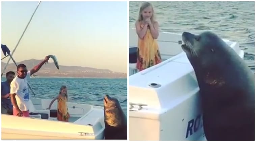
[[[181,45],[190,62],[200,65],[210,65],[212,61],[219,61],[224,56],[227,44],[216,34],[206,31],[200,35],[183,32]],[[194,61],[191,61],[194,60]]]

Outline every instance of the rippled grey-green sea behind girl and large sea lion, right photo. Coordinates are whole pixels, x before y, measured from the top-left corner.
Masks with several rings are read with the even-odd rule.
[[[142,2],[129,2],[129,27],[135,27]],[[254,72],[254,2],[151,2],[160,31],[200,34],[212,31],[237,41]]]

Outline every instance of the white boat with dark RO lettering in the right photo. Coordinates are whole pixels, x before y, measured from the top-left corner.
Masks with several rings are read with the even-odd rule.
[[[129,58],[129,140],[206,140],[197,79],[178,41],[181,34],[159,33],[163,62],[143,71]],[[239,43],[224,41],[244,57]],[[135,57],[137,42],[130,28],[129,57]]]

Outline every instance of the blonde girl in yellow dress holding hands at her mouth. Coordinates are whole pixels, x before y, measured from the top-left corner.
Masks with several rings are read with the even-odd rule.
[[[135,26],[139,37],[136,67],[142,71],[162,61],[157,44],[158,22],[154,20],[151,3],[144,2],[141,5]]]

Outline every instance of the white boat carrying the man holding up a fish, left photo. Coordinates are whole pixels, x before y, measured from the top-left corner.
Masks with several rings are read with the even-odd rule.
[[[2,139],[104,139],[103,107],[68,102],[69,122],[57,120],[57,101],[30,99],[30,117],[2,114]]]

